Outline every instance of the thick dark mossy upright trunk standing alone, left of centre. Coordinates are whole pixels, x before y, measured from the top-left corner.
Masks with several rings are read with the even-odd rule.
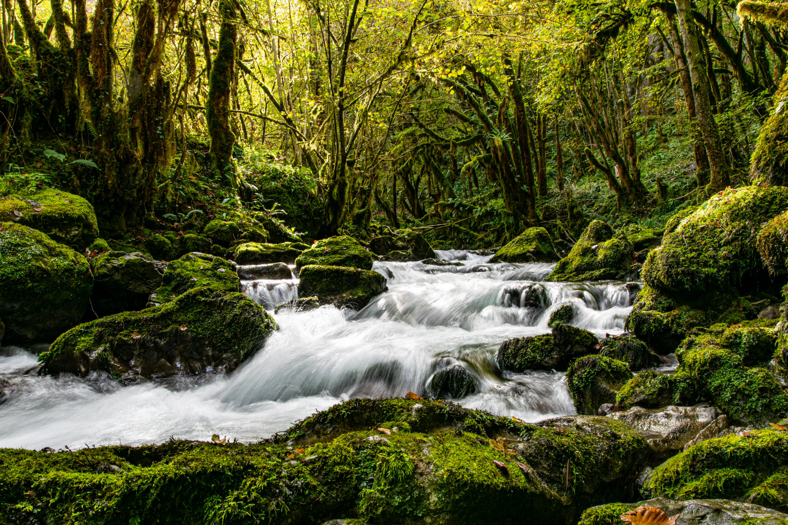
[[[219,4],[221,28],[219,46],[210,68],[206,122],[210,134],[210,166],[214,173],[229,181],[233,193],[237,191],[236,176],[232,172],[232,148],[236,135],[229,124],[229,104],[232,79],[235,76],[236,28],[235,0],[222,0]]]

